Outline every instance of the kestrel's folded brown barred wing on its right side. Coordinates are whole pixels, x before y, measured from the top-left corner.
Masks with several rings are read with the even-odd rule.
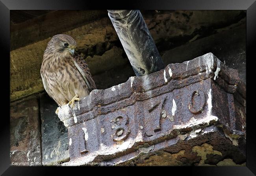
[[[83,58],[80,55],[74,55],[72,57],[74,65],[78,69],[78,71],[83,76],[83,79],[85,80],[85,83],[87,84],[87,88],[89,92],[96,89],[96,85],[93,81],[93,78],[91,76],[91,73],[89,71],[87,63],[83,60]]]

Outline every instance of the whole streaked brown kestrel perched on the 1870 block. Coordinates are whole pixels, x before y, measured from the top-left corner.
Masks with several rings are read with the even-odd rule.
[[[96,89],[84,59],[74,53],[76,41],[65,34],[54,35],[45,49],[41,77],[47,94],[59,105],[85,97]],[[56,110],[58,114],[58,109]]]

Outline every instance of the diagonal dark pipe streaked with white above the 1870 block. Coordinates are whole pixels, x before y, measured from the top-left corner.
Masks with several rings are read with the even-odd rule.
[[[108,16],[137,76],[163,69],[163,61],[139,10],[108,10]]]

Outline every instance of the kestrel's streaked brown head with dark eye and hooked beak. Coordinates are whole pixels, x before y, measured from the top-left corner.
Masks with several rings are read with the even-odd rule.
[[[74,55],[76,41],[69,35],[58,34],[54,35],[48,42],[46,50],[57,52],[59,55],[68,56]]]

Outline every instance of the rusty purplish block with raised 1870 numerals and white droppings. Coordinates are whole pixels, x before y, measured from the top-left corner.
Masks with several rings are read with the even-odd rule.
[[[59,108],[63,165],[244,165],[245,104],[237,70],[212,53],[130,77]]]

